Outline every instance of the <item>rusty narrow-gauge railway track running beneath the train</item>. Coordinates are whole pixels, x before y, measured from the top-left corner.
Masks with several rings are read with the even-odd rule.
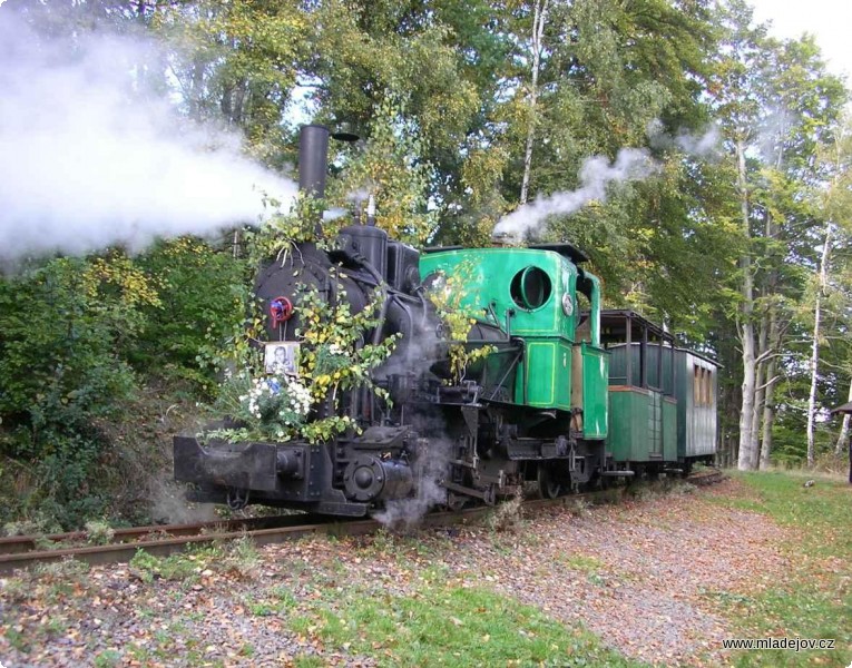
[[[695,485],[707,485],[723,480],[721,471],[702,471],[685,479]],[[594,502],[596,499],[621,494],[627,488],[600,492],[569,494],[556,499],[535,499],[523,502],[526,510],[555,508],[576,503],[578,500]],[[473,521],[488,515],[489,505],[478,505],[454,512],[429,513],[420,521],[421,527],[435,527]],[[155,557],[168,557],[192,546],[205,546],[217,541],[248,538],[256,546],[285,542],[305,536],[329,533],[335,536],[363,536],[376,531],[383,524],[378,520],[339,520],[322,515],[291,514],[242,520],[221,520],[188,524],[163,524],[117,529],[107,544],[89,544],[85,531],[48,536],[22,536],[0,538],[0,573],[49,563],[63,559],[78,559],[91,566],[124,562],[133,559],[138,550]]]

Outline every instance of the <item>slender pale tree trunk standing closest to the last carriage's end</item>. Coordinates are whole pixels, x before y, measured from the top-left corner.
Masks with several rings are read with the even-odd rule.
[[[740,342],[743,346],[743,399],[740,410],[740,456],[737,469],[750,471],[754,468],[756,458],[752,452],[752,424],[754,423],[754,390],[756,381],[754,354],[754,277],[752,276],[751,227],[748,222],[748,188],[745,171],[745,145],[742,138],[736,141],[737,186],[740,188],[740,212],[742,215],[743,235],[746,248],[740,257],[740,271],[743,273],[741,285],[742,323],[740,325]]]

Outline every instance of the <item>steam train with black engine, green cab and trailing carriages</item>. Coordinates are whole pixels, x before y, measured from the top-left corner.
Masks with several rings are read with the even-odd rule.
[[[319,196],[329,138],[324,127],[302,128],[300,187]],[[325,442],[176,436],[176,480],[192,483],[197,501],[362,517],[491,504],[532,483],[552,498],[712,461],[716,364],[637,313],[603,310],[586,261],[570,244],[420,253],[389,238],[371,214],[329,248],[300,244],[257,276],[267,341],[284,356],[305,345],[306,285],[353,314],[378,295],[378,324],[363,343],[398,338],[371,379],[384,392],[343,392],[336,410],[353,428]],[[463,279],[461,306],[474,314],[462,345],[487,352],[461,374],[427,295],[452,276]]]

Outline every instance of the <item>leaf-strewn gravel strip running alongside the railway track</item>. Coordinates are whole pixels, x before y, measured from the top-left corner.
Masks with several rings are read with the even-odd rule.
[[[785,567],[782,529],[713,503],[737,493],[727,481],[691,494],[554,510],[502,531],[311,539],[261,548],[233,570],[188,562],[185,576],[150,582],[127,566],[8,579],[0,582],[0,661],[281,666],[307,654],[370,666],[372,657],[324,647],[288,619],[320,599],[333,605],[343,588],[409,596],[440,572],[450,587],[488,587],[579,622],[630,658],[724,664],[722,640],[735,633],[714,613],[718,598],[754,595]],[[762,580],[748,574],[758,561]]]

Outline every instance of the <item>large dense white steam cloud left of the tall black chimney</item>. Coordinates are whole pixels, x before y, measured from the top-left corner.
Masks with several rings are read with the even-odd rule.
[[[257,222],[264,194],[287,206],[295,184],[238,138],[144,95],[161,63],[150,43],[101,35],[71,52],[0,14],[0,261],[210,235]]]

